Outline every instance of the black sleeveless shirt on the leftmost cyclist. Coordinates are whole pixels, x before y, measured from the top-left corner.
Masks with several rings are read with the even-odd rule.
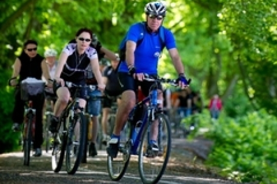
[[[44,58],[41,55],[37,54],[34,58],[30,58],[23,52],[18,59],[21,62],[19,81],[23,81],[27,77],[42,79],[42,61]]]

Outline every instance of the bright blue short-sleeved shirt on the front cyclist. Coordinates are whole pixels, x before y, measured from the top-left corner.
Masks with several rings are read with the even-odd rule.
[[[144,28],[146,29],[146,28]],[[134,51],[134,66],[136,73],[157,74],[157,63],[162,52],[162,40],[159,32],[142,32],[141,23],[133,24],[127,32],[127,41],[137,42],[145,34],[141,44]],[[176,48],[172,32],[164,28],[165,47],[167,50]],[[126,61],[121,62],[118,72],[128,72]]]

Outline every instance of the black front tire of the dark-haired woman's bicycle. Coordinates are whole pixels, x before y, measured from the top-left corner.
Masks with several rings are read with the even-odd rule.
[[[84,114],[83,112],[78,112],[77,113],[77,119],[75,121],[79,121],[79,126],[80,126],[80,131],[79,131],[79,141],[78,144],[74,145],[73,139],[74,139],[74,127],[70,127],[74,122],[69,122],[70,126],[68,128],[68,140],[66,144],[66,171],[68,174],[75,174],[77,171],[81,159],[83,157],[83,152],[84,152],[84,146],[85,146],[85,133],[87,133],[87,128],[86,128],[86,121],[84,121]],[[76,125],[76,124],[75,124]],[[74,148],[75,153],[74,153]],[[73,156],[72,156],[73,152]],[[76,155],[76,156],[74,156]],[[71,162],[71,158],[76,157],[73,161]]]

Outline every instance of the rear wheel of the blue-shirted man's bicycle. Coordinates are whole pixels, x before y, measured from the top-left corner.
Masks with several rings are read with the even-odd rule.
[[[119,151],[116,158],[108,156],[108,173],[113,181],[119,181],[125,174],[131,156],[131,126],[127,122],[121,131]]]

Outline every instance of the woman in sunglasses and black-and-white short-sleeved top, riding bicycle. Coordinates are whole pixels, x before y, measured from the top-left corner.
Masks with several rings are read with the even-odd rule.
[[[58,117],[61,116],[70,99],[70,93],[65,86],[65,81],[84,85],[86,83],[85,71],[90,64],[98,84],[98,89],[103,90],[105,88],[99,68],[97,52],[90,47],[92,35],[91,30],[87,28],[78,30],[75,37],[76,43],[67,44],[58,60],[54,80],[57,84],[61,84],[61,86],[54,89],[57,101],[54,107],[54,116],[49,127],[51,132],[57,131]],[[84,108],[86,105],[85,89],[81,89],[78,98],[80,107]]]

